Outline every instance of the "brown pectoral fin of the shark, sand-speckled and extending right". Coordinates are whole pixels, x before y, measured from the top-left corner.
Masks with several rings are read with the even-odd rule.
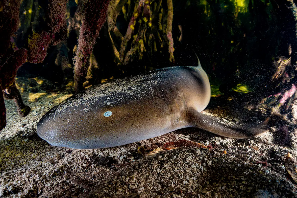
[[[188,108],[187,119],[189,124],[216,135],[221,135],[227,138],[250,138],[262,133],[268,132],[266,123],[264,124],[238,124],[228,126],[222,124],[216,118],[199,113],[194,108]]]

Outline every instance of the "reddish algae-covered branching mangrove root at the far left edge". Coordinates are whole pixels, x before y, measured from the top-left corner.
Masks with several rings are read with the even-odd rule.
[[[15,76],[17,70],[26,61],[40,63],[46,56],[50,44],[56,45],[66,39],[67,26],[65,21],[66,0],[49,0],[47,2],[47,12],[45,12],[45,28],[38,32],[33,32],[27,39],[26,47],[18,49],[14,42],[15,32],[19,28],[20,0],[0,1],[0,72],[1,72],[1,92],[0,95],[0,128],[6,126],[4,98],[14,99],[18,106],[18,113],[26,116],[30,112],[30,107],[23,104],[20,92],[15,86]]]

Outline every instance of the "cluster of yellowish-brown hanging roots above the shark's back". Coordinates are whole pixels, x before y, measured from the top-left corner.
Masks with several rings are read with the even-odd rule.
[[[126,1],[125,1],[126,2]],[[122,12],[120,12],[120,6]],[[164,6],[164,5],[163,5]],[[135,1],[134,10],[130,12],[131,1],[119,4],[119,1],[111,1],[108,7],[108,31],[115,53],[116,62],[128,65],[134,60],[143,59],[144,55],[153,52],[162,53],[164,45],[168,45],[170,62],[174,63],[174,47],[172,38],[173,3],[167,1],[167,9],[162,8],[162,0],[158,2],[150,0]],[[128,28],[121,36],[116,27],[118,15],[124,15],[128,20]],[[162,39],[164,37],[164,40]],[[121,40],[119,51],[116,49],[115,39]],[[167,41],[167,42],[166,42]],[[118,54],[119,53],[119,60]]]

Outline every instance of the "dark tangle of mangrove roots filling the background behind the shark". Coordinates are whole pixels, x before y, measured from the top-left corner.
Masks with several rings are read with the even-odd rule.
[[[296,24],[293,0],[0,0],[0,129],[4,98],[15,100],[21,116],[30,112],[15,84],[20,71],[74,82],[77,92],[193,65],[192,49],[216,100],[236,98],[236,106],[281,114],[293,127]]]

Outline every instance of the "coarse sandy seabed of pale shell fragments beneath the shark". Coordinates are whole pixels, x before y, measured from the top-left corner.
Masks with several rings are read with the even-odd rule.
[[[288,152],[297,157],[297,131],[291,133],[291,147],[275,143],[272,132],[231,139],[193,128],[108,149],[54,147],[39,138],[37,123],[71,94],[37,91],[22,92],[31,107],[25,118],[18,116],[13,101],[5,101],[0,197],[297,197],[285,167]],[[233,120],[218,108],[203,113]],[[181,139],[213,149],[162,149]],[[137,151],[140,146],[144,154]]]

